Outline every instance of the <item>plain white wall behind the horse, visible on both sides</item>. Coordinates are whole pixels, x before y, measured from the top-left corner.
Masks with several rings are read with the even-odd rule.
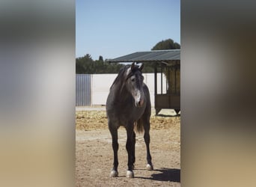
[[[114,82],[118,74],[94,74],[91,75],[91,105],[106,105],[106,99],[109,94],[109,88]],[[155,105],[155,87],[154,87],[154,73],[143,73],[144,83],[150,91],[151,105]],[[162,77],[162,90],[166,91],[166,79]],[[161,74],[157,73],[157,91],[161,91]]]

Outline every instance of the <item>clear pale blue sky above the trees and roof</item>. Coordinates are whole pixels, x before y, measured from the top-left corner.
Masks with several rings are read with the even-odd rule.
[[[76,57],[117,58],[180,43],[180,0],[76,0]]]

